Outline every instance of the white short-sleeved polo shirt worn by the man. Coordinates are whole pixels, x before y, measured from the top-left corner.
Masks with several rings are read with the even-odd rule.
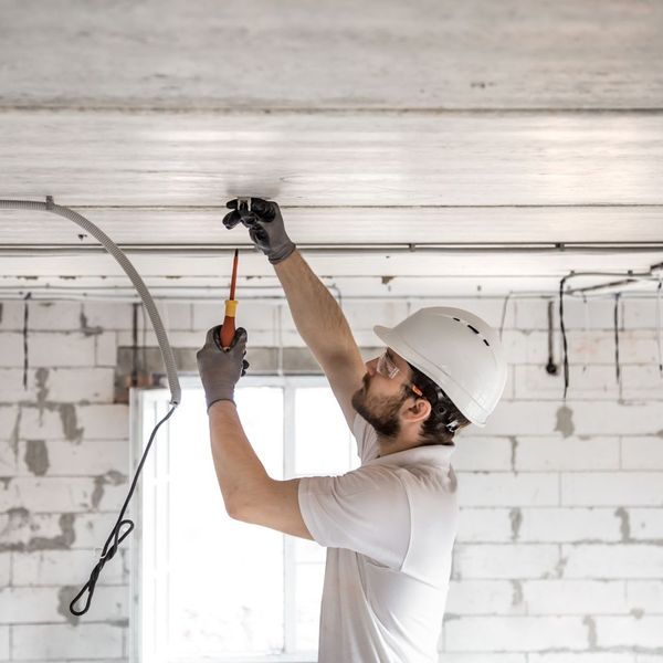
[[[327,548],[318,663],[436,663],[457,527],[454,446],[377,457],[359,414],[361,466],[305,476],[299,508]]]

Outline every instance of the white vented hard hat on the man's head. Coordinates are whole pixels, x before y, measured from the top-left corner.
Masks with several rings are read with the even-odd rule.
[[[373,332],[433,380],[467,420],[486,424],[502,398],[507,371],[493,327],[469,311],[430,306],[393,328],[376,325]]]

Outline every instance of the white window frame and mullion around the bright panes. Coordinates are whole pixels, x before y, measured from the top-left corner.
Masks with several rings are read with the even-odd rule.
[[[200,378],[198,376],[180,377],[182,391],[186,389],[201,388]],[[284,418],[283,418],[283,475],[284,477],[296,477],[295,474],[295,389],[298,387],[329,387],[329,382],[324,375],[314,376],[244,376],[242,378],[242,387],[282,387],[284,389]],[[130,450],[131,450],[131,476],[136,472],[136,467],[140,462],[144,445],[147,444],[149,434],[154,425],[161,419],[169,408],[170,392],[168,389],[130,389],[129,391],[129,415],[130,415]],[[151,420],[146,417],[147,408],[155,408],[156,419]],[[172,413],[177,417],[177,410]],[[168,463],[168,445],[169,445],[169,429],[168,422],[164,423],[152,442],[149,455],[155,456],[155,462],[150,465],[152,472],[158,472],[159,467],[166,466]],[[350,445],[348,445],[348,455],[351,455]],[[348,457],[348,462],[351,459]],[[136,527],[129,537],[129,556],[130,556],[130,573],[129,573],[129,596],[130,596],[130,621],[128,633],[128,654],[129,663],[147,663],[144,657],[144,630],[143,630],[143,609],[144,597],[141,591],[143,578],[143,556],[145,547],[143,541],[143,474],[148,470],[146,462],[143,469],[140,478],[136,484],[136,490],[130,503],[131,518]],[[150,477],[150,478],[154,478]],[[165,482],[167,482],[167,476]],[[167,484],[155,485],[155,490],[164,490]],[[295,645],[295,541],[293,537],[283,535],[284,541],[284,643],[285,651],[292,650]],[[156,546],[155,541],[148,544]],[[148,551],[149,554],[149,551]],[[159,573],[161,573],[162,587],[160,591],[167,592],[168,583],[165,581],[167,573],[164,569],[156,569],[155,586],[159,586]],[[157,591],[157,590],[156,590]],[[156,611],[158,612],[158,601],[156,602]],[[157,617],[157,619],[159,619]],[[152,633],[155,636],[155,633]],[[154,659],[154,653],[152,653]],[[317,652],[306,652],[303,654],[283,653],[269,656],[210,656],[204,659],[178,659],[178,663],[316,663]],[[150,662],[151,663],[151,662]]]

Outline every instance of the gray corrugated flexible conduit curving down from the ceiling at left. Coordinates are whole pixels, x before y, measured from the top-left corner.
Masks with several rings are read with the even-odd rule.
[[[61,207],[53,202],[53,198],[51,196],[46,197],[46,202],[35,202],[32,200],[0,200],[0,209],[4,210],[44,210],[46,212],[53,212],[54,214],[59,214],[60,217],[64,217],[70,221],[76,223],[83,228],[86,232],[88,232],[93,238],[97,239],[106,249],[106,251],[119,263],[119,266],[125,271],[126,275],[129,277],[136,292],[140,296],[143,301],[143,305],[147,309],[149,315],[149,319],[151,320],[152,327],[155,329],[155,334],[157,335],[157,341],[159,344],[159,349],[161,350],[161,357],[164,359],[164,364],[166,365],[166,372],[168,375],[168,386],[170,388],[170,403],[173,406],[179,404],[182,396],[181,387],[179,383],[179,379],[177,377],[177,368],[175,366],[175,357],[172,355],[172,349],[170,348],[170,344],[168,343],[168,337],[166,336],[166,330],[164,329],[164,325],[161,323],[161,317],[159,316],[159,312],[155,305],[147,286],[145,285],[143,278],[136,272],[136,269],[130,263],[129,259],[120,251],[120,249],[115,244],[115,242],[101,229],[98,229],[94,223],[85,219],[78,214],[78,212],[74,212],[74,210],[70,210],[69,208]]]

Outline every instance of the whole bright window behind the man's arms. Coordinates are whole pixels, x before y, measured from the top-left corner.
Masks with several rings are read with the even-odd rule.
[[[134,467],[169,397],[134,392]],[[324,377],[245,376],[235,401],[274,478],[359,465]],[[326,550],[227,515],[198,379],[182,382],[182,401],[159,429],[131,508],[133,661],[317,661]]]

